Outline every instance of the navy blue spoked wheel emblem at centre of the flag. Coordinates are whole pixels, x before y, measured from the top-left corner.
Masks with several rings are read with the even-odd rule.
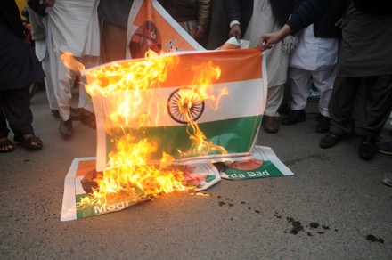
[[[195,122],[204,111],[204,100],[200,93],[190,87],[183,87],[171,93],[167,99],[167,111],[177,123]]]

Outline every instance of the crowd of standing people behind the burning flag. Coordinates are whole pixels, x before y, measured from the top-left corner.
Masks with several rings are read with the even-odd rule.
[[[7,39],[0,50],[0,64],[7,68],[0,72],[0,152],[14,149],[7,137],[7,121],[14,141],[29,149],[42,148],[32,127],[28,98],[28,86],[37,79],[45,78],[49,107],[60,118],[61,136],[68,139],[74,134],[73,120],[95,127],[94,107],[84,87],[78,91],[78,109],[71,108],[78,71],[67,68],[61,54],[71,53],[85,68],[125,59],[133,2],[31,0],[29,19],[36,42],[36,53],[31,53],[23,41],[20,12],[14,0],[5,1],[7,8],[0,12],[0,33]],[[281,122],[290,126],[306,120],[313,84],[320,93],[315,131],[326,134],[321,148],[359,134],[363,136],[360,158],[370,160],[377,150],[392,154],[391,142],[378,143],[392,110],[388,1],[159,0],[159,4],[207,49],[215,49],[229,37],[249,40],[249,47],[260,48],[268,75],[262,120],[266,133],[277,133]],[[284,105],[289,110],[281,115]]]

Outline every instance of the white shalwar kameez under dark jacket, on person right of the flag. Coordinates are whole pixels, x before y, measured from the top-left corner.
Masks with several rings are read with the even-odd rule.
[[[339,38],[314,37],[313,24],[298,34],[299,43],[291,53],[289,78],[291,110],[304,110],[310,93],[311,78],[320,93],[319,111],[330,117],[330,102],[338,62]]]

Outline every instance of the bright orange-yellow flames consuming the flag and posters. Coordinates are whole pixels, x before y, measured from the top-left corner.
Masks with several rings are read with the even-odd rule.
[[[62,58],[71,69],[81,69],[77,61],[72,61],[71,55],[63,55]],[[105,120],[105,131],[153,127],[159,117],[168,117],[170,110],[157,111],[162,106],[148,97],[165,82],[168,71],[177,66],[178,59],[179,56],[175,54],[160,56],[148,52],[145,59],[113,62],[86,72],[86,77],[94,78],[86,85],[88,93],[116,101],[114,110],[106,115],[110,120]],[[209,142],[200,131],[195,113],[206,100],[213,101],[213,109],[216,110],[221,97],[228,94],[226,88],[218,95],[212,94],[211,82],[220,77],[220,73],[220,69],[212,62],[192,68],[192,85],[181,88],[174,97],[176,102],[170,104],[174,106],[171,110],[177,113],[179,120],[186,122],[187,133],[192,140],[192,149],[178,150],[180,155],[205,155],[211,151],[225,153],[223,147]],[[155,118],[151,118],[152,114],[156,115]],[[119,197],[146,199],[161,193],[194,189],[185,178],[185,167],[173,165],[172,155],[163,153],[159,164],[151,163],[151,154],[158,150],[156,143],[146,138],[137,138],[129,130],[120,136],[118,140],[112,140],[116,143],[116,150],[110,152],[109,166],[96,179],[98,188],[93,189],[93,196],[82,199],[82,207],[84,204],[107,203]]]

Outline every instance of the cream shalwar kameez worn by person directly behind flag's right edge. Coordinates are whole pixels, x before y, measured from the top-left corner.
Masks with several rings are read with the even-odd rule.
[[[249,47],[256,47],[261,35],[275,32],[280,28],[269,0],[255,0],[252,19],[244,35],[244,38],[250,41]],[[282,52],[282,42],[266,50],[264,54],[268,80],[265,115],[278,117],[278,109],[283,100],[284,85],[287,81],[289,55]]]

